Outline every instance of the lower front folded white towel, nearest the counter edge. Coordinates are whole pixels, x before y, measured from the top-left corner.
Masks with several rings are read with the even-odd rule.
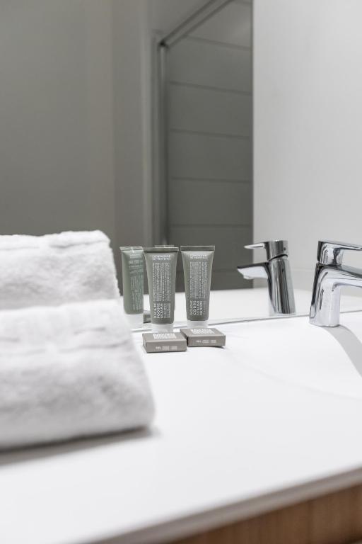
[[[136,429],[153,419],[117,300],[0,312],[0,448]]]

